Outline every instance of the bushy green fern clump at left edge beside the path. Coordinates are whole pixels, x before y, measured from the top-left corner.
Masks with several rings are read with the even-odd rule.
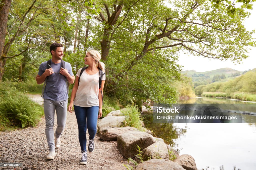
[[[15,83],[0,83],[0,129],[36,126],[43,108],[17,90]]]

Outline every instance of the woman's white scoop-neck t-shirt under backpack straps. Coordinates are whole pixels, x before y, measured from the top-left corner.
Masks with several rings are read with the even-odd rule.
[[[78,70],[76,76],[80,76],[81,70],[82,68]],[[90,75],[84,70],[80,77],[74,105],[80,107],[99,106],[99,78],[100,72]],[[105,74],[102,76],[102,80],[106,80]]]

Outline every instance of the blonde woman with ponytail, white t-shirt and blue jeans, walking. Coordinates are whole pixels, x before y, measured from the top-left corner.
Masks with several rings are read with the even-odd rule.
[[[96,50],[89,50],[84,57],[84,64],[88,67],[80,74],[81,69],[76,74],[76,82],[71,93],[68,111],[72,113],[74,110],[78,124],[78,138],[82,151],[80,164],[87,164],[86,150],[86,130],[89,133],[88,151],[94,151],[94,136],[97,131],[97,119],[102,116],[102,99],[103,91],[99,93],[99,89],[103,90],[106,80],[105,74],[102,76],[101,87],[99,87],[99,77],[101,69],[104,73],[105,65],[100,62],[101,55]],[[80,77],[81,75],[81,77]],[[78,81],[80,77],[80,80]]]

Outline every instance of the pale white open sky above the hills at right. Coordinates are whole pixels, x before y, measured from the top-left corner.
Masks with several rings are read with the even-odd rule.
[[[254,7],[255,8],[255,7]],[[244,25],[248,31],[256,29],[256,10],[249,10],[251,13],[249,18],[246,18]],[[256,38],[256,34],[253,35],[253,38]],[[255,41],[255,40],[254,40]],[[205,72],[210,70],[216,70],[220,68],[232,68],[238,71],[245,71],[249,69],[256,68],[256,47],[251,47],[249,51],[248,58],[243,59],[241,64],[233,63],[230,60],[221,61],[218,59],[209,59],[199,56],[180,54],[178,59],[178,64],[183,66],[183,71],[185,70],[196,70],[197,72]]]

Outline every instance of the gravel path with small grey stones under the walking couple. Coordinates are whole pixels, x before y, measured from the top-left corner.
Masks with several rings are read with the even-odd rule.
[[[40,95],[31,95],[31,98],[42,104]],[[55,116],[54,129],[56,126]],[[55,159],[47,161],[45,119],[42,117],[37,127],[0,132],[0,162],[23,163],[23,167],[0,166],[0,169],[126,169],[122,164],[127,164],[127,159],[118,151],[116,141],[103,141],[97,134],[94,141],[95,151],[88,153],[88,164],[80,165],[81,150],[76,116],[74,112],[68,112],[61,147],[56,149]]]

